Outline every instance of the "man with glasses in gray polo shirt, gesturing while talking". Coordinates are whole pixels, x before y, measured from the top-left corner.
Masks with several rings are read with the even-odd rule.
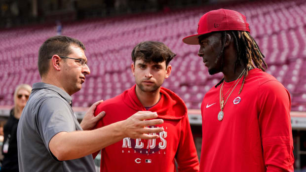
[[[93,116],[100,102],[89,108],[81,124],[77,122],[71,95],[90,74],[84,50],[80,41],[67,36],[51,37],[39,48],[42,82],[33,85],[17,130],[20,172],[95,172],[91,153],[126,137],[158,138],[149,134],[163,131],[145,127],[163,123],[153,119],[157,114],[149,111],[89,130],[105,114]]]

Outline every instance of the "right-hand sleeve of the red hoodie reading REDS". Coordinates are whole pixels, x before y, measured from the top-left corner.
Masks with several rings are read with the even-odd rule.
[[[191,133],[188,116],[182,119],[181,136],[176,154],[179,172],[198,172],[199,161]]]

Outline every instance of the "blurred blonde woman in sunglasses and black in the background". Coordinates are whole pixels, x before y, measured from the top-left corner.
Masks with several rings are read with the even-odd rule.
[[[0,172],[19,172],[17,151],[17,126],[22,110],[25,107],[32,87],[28,84],[18,85],[14,92],[14,107],[4,125],[2,154],[4,155]]]

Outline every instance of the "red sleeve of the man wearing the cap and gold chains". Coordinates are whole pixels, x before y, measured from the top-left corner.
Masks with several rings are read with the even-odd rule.
[[[259,87],[259,125],[267,172],[293,172],[289,92],[275,80]]]

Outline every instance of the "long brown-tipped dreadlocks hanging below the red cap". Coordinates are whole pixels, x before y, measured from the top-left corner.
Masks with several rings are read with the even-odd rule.
[[[235,62],[234,71],[236,72],[236,66],[242,65],[240,64],[240,60],[243,62],[244,66],[244,73],[243,73],[243,80],[242,85],[240,87],[239,93],[241,93],[243,84],[245,81],[245,77],[248,75],[248,70],[252,68],[259,68],[265,71],[268,68],[267,63],[265,62],[264,58],[265,56],[260,51],[258,44],[254,40],[254,38],[250,35],[249,32],[246,31],[223,31],[221,36],[221,42],[222,42],[222,49],[221,54],[223,54],[224,50],[224,44],[226,40],[226,35],[231,34],[234,38],[234,43],[236,47],[236,55],[237,60]],[[221,62],[222,63],[222,62]],[[265,66],[263,67],[262,64]],[[224,64],[222,63],[222,68]],[[217,84],[221,84],[224,81],[224,78]],[[216,86],[217,86],[216,85]]]

